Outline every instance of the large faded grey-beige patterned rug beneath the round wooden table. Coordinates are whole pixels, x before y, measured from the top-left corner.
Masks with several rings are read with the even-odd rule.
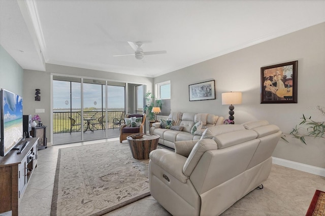
[[[149,196],[148,165],[118,141],[60,149],[51,215],[103,215]]]

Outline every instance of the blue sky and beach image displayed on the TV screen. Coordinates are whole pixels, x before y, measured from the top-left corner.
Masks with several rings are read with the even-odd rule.
[[[4,152],[13,148],[22,134],[22,97],[4,91]]]

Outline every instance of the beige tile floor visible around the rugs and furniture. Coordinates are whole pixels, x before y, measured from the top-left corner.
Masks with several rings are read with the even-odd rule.
[[[19,215],[50,215],[58,149],[113,140],[118,138],[57,145],[40,150],[38,166],[19,204]],[[325,178],[273,165],[263,185],[263,190],[252,191],[221,215],[305,215],[315,190],[325,191]],[[0,215],[11,215],[11,212]],[[105,215],[171,214],[149,196]]]

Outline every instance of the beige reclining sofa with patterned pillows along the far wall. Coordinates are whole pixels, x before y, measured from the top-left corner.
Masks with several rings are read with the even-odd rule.
[[[160,122],[156,122],[152,124],[150,133],[159,135],[158,143],[171,149],[175,149],[175,141],[200,139],[206,128],[223,124],[223,117],[203,113],[174,112],[167,120],[174,121],[176,125],[183,127],[182,131],[160,128]],[[203,122],[202,129],[191,134],[192,127],[199,121]]]

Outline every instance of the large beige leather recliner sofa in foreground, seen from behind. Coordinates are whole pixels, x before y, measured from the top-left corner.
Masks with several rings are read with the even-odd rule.
[[[219,215],[268,178],[281,134],[267,121],[218,125],[154,150],[150,193],[173,215]]]

